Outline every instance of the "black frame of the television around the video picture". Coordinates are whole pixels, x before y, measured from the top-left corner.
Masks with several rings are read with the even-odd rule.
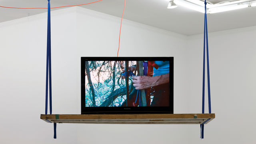
[[[170,61],[170,106],[86,107],[85,61]],[[81,114],[173,114],[174,57],[81,57]]]

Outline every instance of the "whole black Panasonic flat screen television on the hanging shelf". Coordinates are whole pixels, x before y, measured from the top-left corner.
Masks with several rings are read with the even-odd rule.
[[[81,57],[81,114],[173,113],[173,57]]]

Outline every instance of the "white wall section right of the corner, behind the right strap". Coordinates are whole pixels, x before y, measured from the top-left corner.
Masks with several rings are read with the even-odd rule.
[[[216,119],[205,125],[203,141],[194,132],[199,128],[196,125],[190,126],[186,137],[191,143],[255,144],[256,26],[212,32],[208,37],[211,103]],[[202,112],[203,38],[202,34],[188,37],[190,113]],[[207,98],[205,110],[208,112]]]

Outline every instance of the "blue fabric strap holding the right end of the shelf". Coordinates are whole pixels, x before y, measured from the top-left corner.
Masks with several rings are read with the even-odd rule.
[[[208,86],[208,108],[209,114],[211,110],[211,94],[210,94],[210,69],[209,69],[209,49],[208,49],[208,29],[207,29],[207,13],[206,13],[206,0],[204,1],[204,59],[203,59],[203,93],[202,93],[202,114],[204,114],[204,88],[205,88],[205,45],[206,45],[206,58],[207,58],[207,86]],[[209,120],[209,119],[208,119]],[[206,120],[206,122],[208,121]],[[205,122],[204,122],[205,123]],[[201,132],[200,138],[204,138],[204,123],[200,124]]]

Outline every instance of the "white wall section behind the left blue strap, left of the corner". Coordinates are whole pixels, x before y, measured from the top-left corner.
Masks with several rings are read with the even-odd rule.
[[[53,113],[79,113],[75,8],[52,12]],[[46,144],[53,125],[45,108],[47,13],[0,23],[0,143]],[[78,99],[79,98],[79,99]],[[76,125],[57,126],[57,143],[76,143]]]

